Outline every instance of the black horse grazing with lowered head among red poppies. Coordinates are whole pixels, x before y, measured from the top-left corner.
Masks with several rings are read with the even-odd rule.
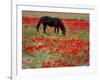
[[[65,35],[64,24],[59,18],[49,17],[49,16],[41,17],[39,23],[36,26],[37,31],[39,31],[39,27],[41,23],[43,24],[44,33],[46,33],[46,27],[50,26],[50,27],[54,27],[54,31],[55,32],[57,31],[58,33],[59,33],[59,28],[60,28],[62,31],[62,34]]]

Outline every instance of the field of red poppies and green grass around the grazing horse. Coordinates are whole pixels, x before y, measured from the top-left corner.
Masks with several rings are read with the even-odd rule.
[[[89,66],[89,21],[62,19],[66,35],[43,25],[37,32],[39,18],[22,17],[22,68]]]

